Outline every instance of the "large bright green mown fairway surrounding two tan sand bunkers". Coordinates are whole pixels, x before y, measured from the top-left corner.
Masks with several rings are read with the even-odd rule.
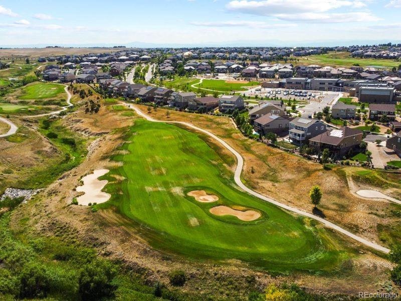
[[[138,119],[124,138],[120,149],[127,154],[112,157],[123,165],[103,177],[114,181],[105,187],[112,197],[97,207],[117,207],[153,247],[196,259],[235,258],[272,271],[331,270],[348,256],[314,221],[238,190],[225,162],[195,133]],[[186,195],[198,189],[219,201],[200,203]],[[209,212],[221,204],[262,216],[244,222]]]

